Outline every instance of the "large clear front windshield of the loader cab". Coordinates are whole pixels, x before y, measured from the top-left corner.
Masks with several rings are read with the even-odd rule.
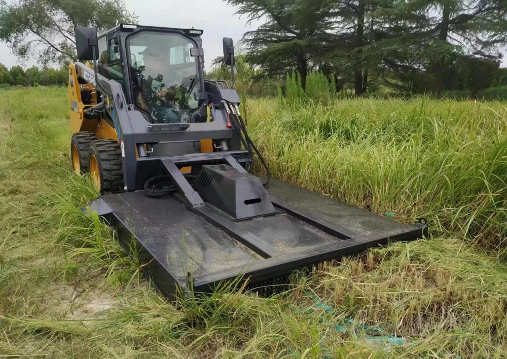
[[[154,123],[189,122],[199,101],[194,43],[177,33],[142,31],[127,42],[134,70],[135,104]]]

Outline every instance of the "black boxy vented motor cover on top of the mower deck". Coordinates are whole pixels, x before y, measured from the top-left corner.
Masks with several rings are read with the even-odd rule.
[[[202,166],[196,190],[202,199],[236,220],[277,212],[259,177],[226,164]]]

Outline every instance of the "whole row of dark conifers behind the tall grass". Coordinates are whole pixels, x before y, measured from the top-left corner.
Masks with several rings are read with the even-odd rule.
[[[498,69],[507,45],[505,0],[227,1],[250,22],[266,19],[244,35],[246,60],[268,77],[296,70],[303,88],[322,70],[357,95],[369,79],[439,95],[463,83],[451,79],[458,69]]]

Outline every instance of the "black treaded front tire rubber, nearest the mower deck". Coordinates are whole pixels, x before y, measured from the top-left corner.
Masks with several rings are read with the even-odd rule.
[[[90,146],[90,159],[92,155],[97,159],[99,168],[100,193],[123,191],[123,165],[120,144],[113,139],[97,139]],[[88,163],[90,163],[90,159]]]

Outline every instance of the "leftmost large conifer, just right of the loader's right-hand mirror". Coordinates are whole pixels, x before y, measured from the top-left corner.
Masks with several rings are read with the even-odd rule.
[[[260,65],[267,76],[297,70],[303,88],[308,68],[333,43],[330,4],[327,0],[227,0],[248,21],[266,19],[257,30],[245,33],[247,60]]]

